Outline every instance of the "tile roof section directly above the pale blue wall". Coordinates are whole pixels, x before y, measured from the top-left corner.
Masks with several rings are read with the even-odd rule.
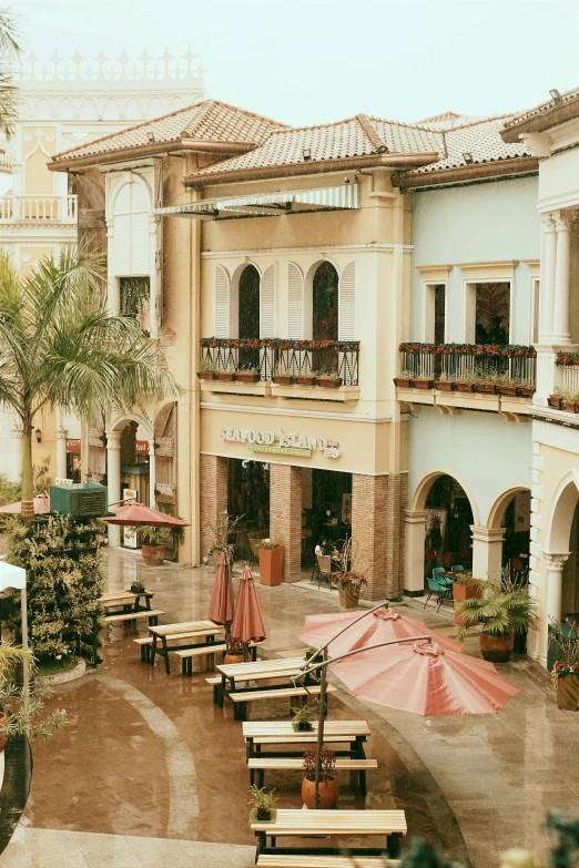
[[[510,119],[510,115],[507,115],[507,118]],[[427,174],[444,169],[465,167],[467,164],[463,154],[466,153],[473,155],[473,163],[469,165],[529,156],[530,151],[522,142],[507,144],[502,141],[500,131],[505,126],[505,115],[486,118],[464,126],[455,126],[441,131],[440,135],[444,136],[446,145],[445,153],[440,155],[436,163],[413,169],[407,174]]]

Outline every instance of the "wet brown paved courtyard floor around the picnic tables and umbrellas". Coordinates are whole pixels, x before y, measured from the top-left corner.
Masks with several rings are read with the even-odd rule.
[[[144,566],[138,554],[109,553],[111,590],[139,578],[155,592],[165,623],[204,617],[213,581],[207,568]],[[295,652],[306,614],[338,610],[337,595],[316,585],[258,586],[268,632],[263,656]],[[398,604],[447,634],[449,609],[423,612]],[[165,675],[140,662],[135,633],[104,634],[104,663],[58,688],[53,702],[71,725],[34,744],[31,796],[0,868],[145,868],[211,865],[250,868],[248,774],[241,724],[212,703],[204,676]],[[467,653],[478,654],[476,637]],[[579,813],[578,715],[557,709],[547,673],[527,657],[500,667],[524,691],[498,715],[423,718],[355,699],[339,690],[332,716],[365,717],[367,807],[398,807],[410,835],[436,840],[454,859],[498,866],[509,847],[547,846],[548,809]],[[256,707],[281,716],[286,704]],[[271,774],[280,806],[298,807],[299,774]],[[362,807],[341,778],[341,806]]]

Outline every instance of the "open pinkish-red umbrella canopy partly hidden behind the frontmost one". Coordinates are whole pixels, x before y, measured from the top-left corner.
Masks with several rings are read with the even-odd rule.
[[[321,647],[332,636],[335,636],[341,630],[356,621],[357,617],[359,617],[359,612],[308,615],[298,639],[308,645]],[[341,654],[346,654],[348,651],[364,647],[364,645],[377,645],[378,642],[389,642],[394,639],[409,639],[412,636],[433,636],[447,651],[463,651],[460,642],[428,630],[419,621],[402,615],[395,609],[378,609],[376,612],[368,612],[365,617],[360,617],[349,630],[346,630],[338,639],[331,642],[328,655],[337,657]],[[393,645],[393,649],[396,650],[396,645]],[[383,651],[386,654],[390,649],[385,647]]]

